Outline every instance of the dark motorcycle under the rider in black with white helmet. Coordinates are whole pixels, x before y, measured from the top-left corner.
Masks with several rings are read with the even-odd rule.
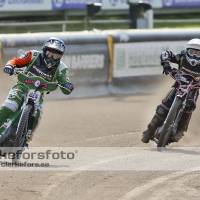
[[[164,123],[157,128],[152,138],[156,142],[159,151],[170,144],[170,137],[177,134],[178,124],[187,105],[191,90],[200,89],[200,81],[192,75],[181,73],[174,68],[170,71],[170,75],[179,83],[179,87]]]

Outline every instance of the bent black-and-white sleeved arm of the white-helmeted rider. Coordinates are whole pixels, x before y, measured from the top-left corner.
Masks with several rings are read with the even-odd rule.
[[[185,53],[185,51],[182,51],[180,54],[173,53],[170,50],[163,51],[160,55],[160,61],[161,65],[163,65],[165,62],[172,62],[176,64],[180,64],[180,58]]]

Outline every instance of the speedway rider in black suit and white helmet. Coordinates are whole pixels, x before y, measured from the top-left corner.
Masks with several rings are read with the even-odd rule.
[[[169,74],[171,70],[170,62],[172,62],[178,64],[178,69],[182,73],[200,77],[200,39],[195,38],[190,40],[187,43],[186,50],[181,51],[180,54],[173,53],[170,50],[163,51],[160,59],[163,66],[163,74]],[[162,100],[162,103],[157,106],[156,113],[148,124],[147,130],[143,132],[142,142],[148,143],[153,137],[155,130],[164,122],[175,98],[177,88],[178,82],[176,81]],[[198,95],[198,90],[191,90],[181,121],[178,124],[177,134],[170,138],[170,142],[178,142],[184,136],[183,132],[187,131],[192,112],[196,108]]]

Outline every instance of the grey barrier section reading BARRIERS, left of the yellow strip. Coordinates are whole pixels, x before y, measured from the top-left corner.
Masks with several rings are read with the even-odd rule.
[[[107,35],[104,33],[1,35],[2,65],[12,57],[20,56],[30,49],[41,51],[44,41],[49,37],[58,37],[66,43],[66,51],[62,61],[68,66],[69,78],[76,88],[71,96],[96,96],[108,93],[106,85],[110,58]],[[51,97],[52,94],[49,96]],[[56,97],[62,98],[63,95],[58,92]]]

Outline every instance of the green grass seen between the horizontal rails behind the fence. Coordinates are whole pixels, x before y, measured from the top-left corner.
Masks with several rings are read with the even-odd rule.
[[[198,19],[200,18],[200,13],[195,14],[178,14],[178,15],[154,15],[154,19]],[[54,17],[34,17],[27,18],[26,22],[34,21],[62,21],[63,19],[59,16]],[[69,16],[69,20],[83,20],[83,17],[78,16]],[[92,20],[116,20],[116,19],[129,19],[129,16],[95,16]],[[20,21],[20,20],[18,20]],[[23,19],[23,22],[25,20]],[[12,20],[13,22],[13,20]],[[110,23],[110,24],[89,24],[88,30],[93,28],[99,30],[108,30],[108,29],[129,29],[128,23]],[[200,28],[200,23],[154,23],[154,28]],[[67,25],[67,31],[82,31],[84,30],[84,23],[82,24],[70,24]],[[61,32],[62,25],[41,25],[41,26],[10,26],[10,27],[1,27],[0,34],[3,33],[27,33],[27,32]]]

